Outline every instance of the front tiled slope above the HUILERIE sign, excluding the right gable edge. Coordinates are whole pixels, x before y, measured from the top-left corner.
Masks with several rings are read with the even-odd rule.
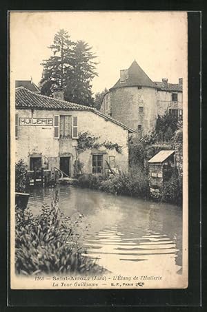
[[[88,110],[90,107],[44,96],[24,87],[16,88],[16,107],[37,110]]]

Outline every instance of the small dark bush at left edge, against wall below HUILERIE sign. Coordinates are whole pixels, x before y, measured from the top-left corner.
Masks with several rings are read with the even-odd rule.
[[[15,191],[25,191],[27,171],[27,165],[22,159],[15,164]]]

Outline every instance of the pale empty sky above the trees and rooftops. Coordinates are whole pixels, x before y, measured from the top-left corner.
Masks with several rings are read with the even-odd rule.
[[[10,70],[15,80],[41,80],[55,33],[67,30],[98,56],[92,91],[108,89],[136,60],[152,81],[178,83],[187,72],[186,12],[10,12]]]

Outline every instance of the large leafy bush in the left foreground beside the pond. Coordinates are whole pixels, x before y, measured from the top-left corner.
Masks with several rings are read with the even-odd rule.
[[[37,273],[101,273],[94,260],[82,256],[78,245],[82,215],[75,220],[64,216],[58,198],[51,207],[44,205],[41,214],[33,216],[29,209],[16,207],[15,271],[18,274]],[[84,251],[85,252],[85,251]]]

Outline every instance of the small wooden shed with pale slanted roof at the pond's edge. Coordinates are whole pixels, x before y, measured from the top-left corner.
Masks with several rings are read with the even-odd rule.
[[[175,151],[162,150],[148,160],[150,196],[159,198],[161,189],[170,177],[175,167]]]

